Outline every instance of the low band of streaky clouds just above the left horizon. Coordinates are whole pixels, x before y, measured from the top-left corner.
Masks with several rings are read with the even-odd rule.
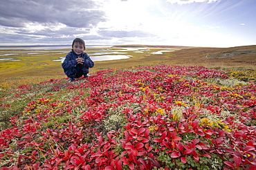
[[[37,25],[38,26],[38,25]],[[86,37],[90,29],[64,27],[55,30],[52,26],[39,28],[0,27],[0,39],[3,44],[70,44],[75,37]],[[90,38],[92,38],[91,36]],[[100,37],[94,36],[95,39]]]

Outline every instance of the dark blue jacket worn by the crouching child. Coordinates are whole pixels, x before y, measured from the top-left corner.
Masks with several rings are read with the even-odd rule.
[[[77,64],[75,60],[77,57],[82,57],[84,59],[83,64]],[[89,73],[89,68],[94,66],[93,61],[90,59],[89,55],[82,53],[81,55],[75,54],[73,50],[66,55],[64,62],[62,63],[62,68],[64,73],[68,77],[79,78],[82,75],[87,75]]]

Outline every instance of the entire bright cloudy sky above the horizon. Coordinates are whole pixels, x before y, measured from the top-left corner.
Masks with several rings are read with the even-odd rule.
[[[0,46],[256,45],[255,0],[1,0]]]

